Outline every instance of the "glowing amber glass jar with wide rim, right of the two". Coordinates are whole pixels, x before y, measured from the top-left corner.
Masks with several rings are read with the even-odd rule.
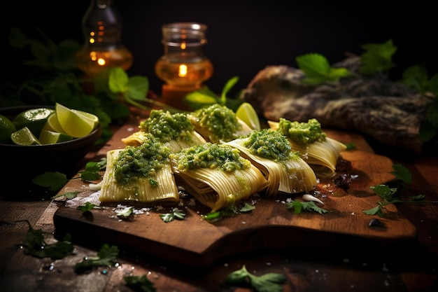
[[[155,64],[155,74],[165,81],[162,102],[176,109],[190,110],[183,102],[213,75],[213,65],[204,56],[206,25],[175,22],[162,26],[164,55]]]

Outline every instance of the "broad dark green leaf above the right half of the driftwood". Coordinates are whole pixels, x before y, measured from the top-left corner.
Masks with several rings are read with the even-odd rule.
[[[366,43],[362,45],[362,48],[366,51],[360,55],[362,63],[359,69],[360,73],[372,75],[395,67],[392,57],[397,51],[397,47],[394,46],[393,40],[389,39],[385,43]]]

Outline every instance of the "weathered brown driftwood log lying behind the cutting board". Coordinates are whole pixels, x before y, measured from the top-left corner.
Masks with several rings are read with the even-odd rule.
[[[260,116],[307,122],[316,118],[323,127],[357,130],[387,146],[417,155],[423,143],[419,128],[428,99],[401,83],[388,81],[385,74],[358,74],[360,60],[348,57],[333,65],[353,72],[337,84],[303,85],[301,70],[269,66],[260,71],[243,90]]]

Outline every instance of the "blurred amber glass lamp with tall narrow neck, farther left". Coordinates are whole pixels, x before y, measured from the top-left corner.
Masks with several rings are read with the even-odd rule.
[[[91,0],[82,29],[85,44],[76,54],[76,64],[85,76],[109,67],[131,67],[132,53],[122,43],[122,18],[112,0]]]

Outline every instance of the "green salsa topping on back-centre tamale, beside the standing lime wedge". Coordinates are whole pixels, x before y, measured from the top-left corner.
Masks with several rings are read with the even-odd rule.
[[[204,109],[195,111],[195,117],[201,127],[205,127],[209,132],[222,141],[231,141],[236,138],[236,132],[241,130],[236,113],[227,106],[213,104]]]

